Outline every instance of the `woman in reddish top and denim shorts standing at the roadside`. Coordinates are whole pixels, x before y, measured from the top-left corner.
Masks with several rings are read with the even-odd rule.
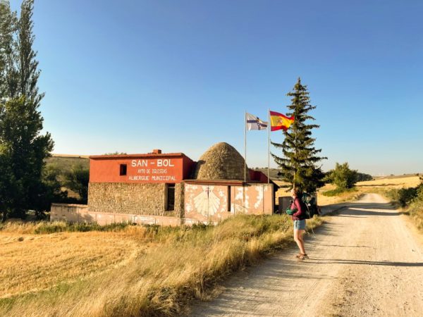
[[[291,197],[293,197],[293,202],[290,206],[291,210],[297,210],[293,213],[292,219],[294,221],[294,240],[297,242],[298,248],[300,249],[300,253],[296,255],[298,261],[303,261],[308,259],[307,254],[305,253],[304,248],[304,240],[302,240],[302,236],[305,232],[305,207],[304,204],[301,203],[300,200],[300,190],[298,188],[291,189]]]

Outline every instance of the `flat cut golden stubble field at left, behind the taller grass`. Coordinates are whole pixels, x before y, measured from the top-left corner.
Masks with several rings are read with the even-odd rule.
[[[142,247],[118,232],[34,235],[9,225],[0,231],[0,298],[92,277],[135,259]]]

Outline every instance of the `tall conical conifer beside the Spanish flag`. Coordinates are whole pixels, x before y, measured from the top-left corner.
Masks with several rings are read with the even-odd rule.
[[[293,92],[289,92],[287,96],[292,97],[287,115],[294,116],[295,120],[288,131],[283,131],[284,139],[281,144],[271,142],[274,147],[282,149],[283,156],[271,155],[280,168],[279,173],[283,180],[290,182],[293,187],[314,192],[324,185],[324,173],[317,163],[326,159],[318,156],[321,149],[314,148],[312,129],[319,128],[319,125],[307,124],[307,120],[314,120],[307,113],[316,107],[310,104],[307,86],[301,84],[300,78]]]

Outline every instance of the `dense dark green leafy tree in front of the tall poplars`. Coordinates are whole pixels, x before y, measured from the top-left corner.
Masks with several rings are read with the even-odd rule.
[[[53,149],[49,133],[40,135],[42,118],[37,106],[25,97],[6,101],[0,114],[0,140],[6,149],[4,161],[15,182],[8,206],[12,216],[23,217],[36,208],[42,192],[44,159]],[[7,158],[7,159],[6,159]]]

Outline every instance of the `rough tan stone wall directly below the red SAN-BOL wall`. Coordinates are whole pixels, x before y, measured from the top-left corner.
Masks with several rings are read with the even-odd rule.
[[[183,213],[183,185],[175,185],[175,210],[166,211],[166,184],[90,182],[90,212],[129,213],[134,215],[171,216]]]

